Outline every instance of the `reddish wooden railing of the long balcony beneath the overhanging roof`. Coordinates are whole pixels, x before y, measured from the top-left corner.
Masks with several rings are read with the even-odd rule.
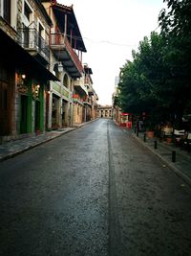
[[[51,34],[51,39],[50,39],[50,45],[51,46],[64,46],[65,49],[67,50],[70,58],[73,60],[74,65],[78,69],[80,73],[83,71],[83,66],[81,61],[79,60],[78,56],[74,52],[73,47],[71,46],[67,36],[64,36],[64,34],[61,33],[53,33]],[[60,50],[62,51],[62,50]]]

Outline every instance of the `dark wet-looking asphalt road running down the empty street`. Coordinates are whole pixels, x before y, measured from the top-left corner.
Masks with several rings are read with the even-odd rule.
[[[0,163],[0,255],[191,255],[191,188],[111,120]]]

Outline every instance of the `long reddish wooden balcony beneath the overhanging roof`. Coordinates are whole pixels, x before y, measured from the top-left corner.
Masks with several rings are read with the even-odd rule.
[[[75,54],[68,38],[61,33],[53,33],[50,38],[50,48],[55,57],[62,61],[64,68],[73,78],[80,78],[83,66]]]

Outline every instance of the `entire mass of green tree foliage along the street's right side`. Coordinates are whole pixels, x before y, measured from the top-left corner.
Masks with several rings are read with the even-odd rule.
[[[164,2],[168,9],[159,13],[160,34],[139,42],[118,84],[120,107],[147,112],[155,122],[191,111],[191,1]]]

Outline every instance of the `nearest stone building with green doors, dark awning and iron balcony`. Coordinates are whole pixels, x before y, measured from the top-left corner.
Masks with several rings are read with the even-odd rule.
[[[1,141],[45,130],[52,21],[38,0],[0,0]]]

